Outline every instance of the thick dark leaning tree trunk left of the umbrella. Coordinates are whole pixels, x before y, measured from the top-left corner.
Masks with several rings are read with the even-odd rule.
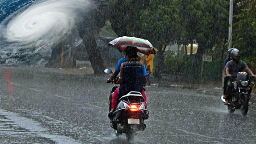
[[[99,29],[104,26],[107,19],[105,4],[106,3],[99,4],[95,9],[83,15],[81,17],[82,23],[78,26],[80,28],[79,35],[85,44],[88,59],[96,75],[103,74],[105,69],[102,56],[95,40],[95,35],[99,33]]]

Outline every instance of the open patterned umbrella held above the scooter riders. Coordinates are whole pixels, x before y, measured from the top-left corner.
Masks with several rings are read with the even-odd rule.
[[[137,47],[138,52],[147,55],[156,53],[153,45],[148,40],[136,37],[119,37],[110,41],[107,45],[115,47],[120,53],[124,51],[127,46]]]

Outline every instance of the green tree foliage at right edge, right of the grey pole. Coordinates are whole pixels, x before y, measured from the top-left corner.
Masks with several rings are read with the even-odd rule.
[[[242,3],[241,12],[234,16],[234,32],[232,34],[234,47],[241,51],[243,60],[252,67],[255,72],[256,68],[256,15],[255,7],[256,1],[249,1],[250,3]],[[253,3],[254,2],[254,3]]]

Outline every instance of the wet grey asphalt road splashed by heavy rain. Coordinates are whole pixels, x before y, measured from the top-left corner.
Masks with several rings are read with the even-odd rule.
[[[106,78],[0,68],[0,143],[127,144],[107,118]],[[147,128],[131,144],[255,144],[256,107],[229,114],[219,97],[150,87]]]

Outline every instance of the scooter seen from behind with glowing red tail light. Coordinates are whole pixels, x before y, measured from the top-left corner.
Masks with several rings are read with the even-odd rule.
[[[104,71],[106,74],[112,73],[111,69]],[[119,78],[118,78],[119,79]],[[113,82],[118,84],[118,79]],[[109,112],[112,106],[112,96],[116,88],[119,86],[114,85],[109,95]],[[144,131],[146,129],[145,119],[148,119],[149,111],[146,109],[146,101],[142,94],[138,91],[131,91],[122,96],[118,100],[115,111],[113,112],[110,123],[115,130],[115,135],[126,135],[127,140],[131,140],[137,131]]]

